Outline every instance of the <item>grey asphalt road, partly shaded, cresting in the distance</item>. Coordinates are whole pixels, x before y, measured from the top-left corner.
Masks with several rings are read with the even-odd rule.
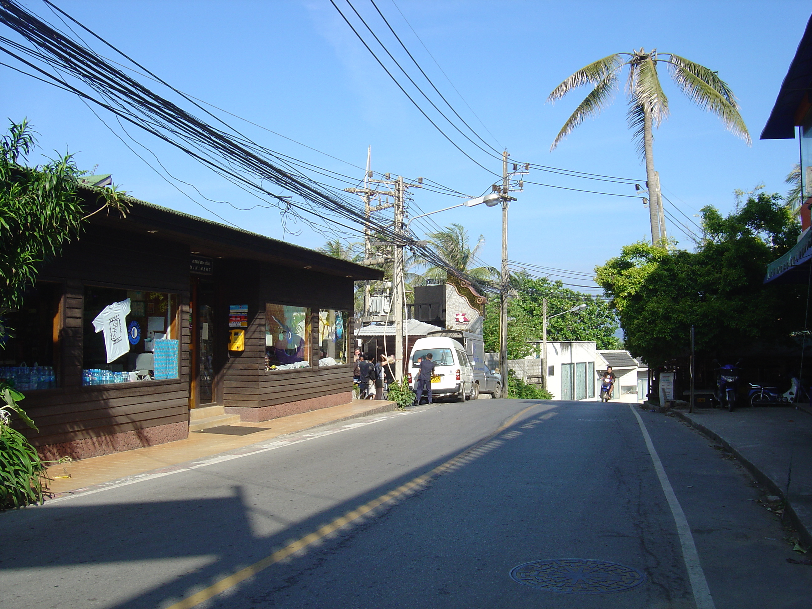
[[[810,607],[812,567],[787,563],[806,556],[758,486],[676,419],[641,418],[682,537],[627,404],[477,400],[0,514],[0,607]],[[641,583],[565,594],[510,577],[549,559]]]

